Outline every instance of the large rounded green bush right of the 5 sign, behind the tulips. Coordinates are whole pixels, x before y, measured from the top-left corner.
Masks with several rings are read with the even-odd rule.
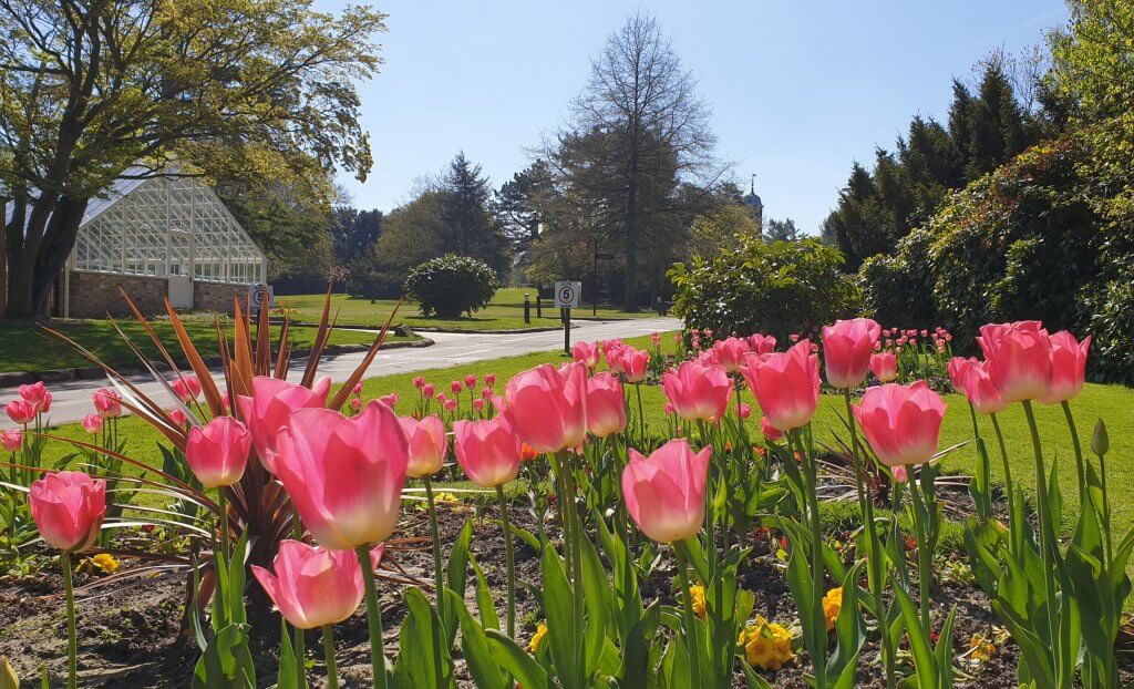
[[[841,264],[837,249],[814,240],[748,240],[710,261],[674,266],[674,311],[691,328],[786,342],[792,333],[861,313],[858,288]]]

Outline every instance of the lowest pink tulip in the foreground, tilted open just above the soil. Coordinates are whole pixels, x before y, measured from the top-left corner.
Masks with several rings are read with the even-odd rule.
[[[362,568],[350,551],[282,540],[272,569],[274,573],[252,565],[252,573],[296,629],[342,622],[358,610],[365,595]]]

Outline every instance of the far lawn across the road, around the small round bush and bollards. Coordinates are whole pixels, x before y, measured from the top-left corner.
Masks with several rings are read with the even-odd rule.
[[[524,294],[532,296],[532,322],[524,322]],[[322,294],[302,294],[296,296],[278,296],[276,305],[287,309],[293,313],[293,318],[304,321],[316,321],[323,309]],[[380,327],[386,322],[397,303],[395,300],[355,299],[345,294],[331,296],[331,306],[339,310],[338,322],[352,326]],[[550,300],[543,300],[543,318],[538,318],[535,313],[535,289],[523,287],[505,287],[497,291],[496,297],[488,308],[475,312],[472,317],[460,318],[425,318],[421,314],[416,304],[403,303],[398,310],[396,322],[409,326],[411,328],[463,328],[468,330],[521,330],[524,328],[557,327],[560,324],[559,310],[551,308]],[[572,316],[575,318],[591,318],[591,305],[575,310]],[[603,319],[626,319],[648,318],[653,312],[646,310],[643,313],[625,313],[617,306],[600,305],[598,318]]]

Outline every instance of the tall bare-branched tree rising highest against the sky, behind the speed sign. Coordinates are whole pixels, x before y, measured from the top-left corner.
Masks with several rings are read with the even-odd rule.
[[[655,228],[670,225],[671,218],[659,213],[666,207],[666,196],[659,194],[670,190],[657,180],[694,178],[706,187],[725,169],[712,156],[710,110],[695,90],[696,82],[662,36],[661,26],[637,12],[607,39],[591,61],[585,89],[572,103],[576,121],[569,137],[593,135],[592,142],[609,146],[601,157],[608,165],[599,170],[607,176],[611,193],[606,198],[617,215],[626,311],[638,308],[648,207],[654,207]]]

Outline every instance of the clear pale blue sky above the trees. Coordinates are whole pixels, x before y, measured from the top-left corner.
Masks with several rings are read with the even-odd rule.
[[[315,0],[337,9],[340,0]],[[359,84],[374,169],[341,182],[390,210],[458,150],[494,186],[560,126],[590,56],[640,7],[671,34],[713,108],[718,152],[755,173],[765,217],[815,233],[853,160],[892,148],[915,114],[943,120],[950,78],[990,50],[1040,43],[1061,0],[861,2],[384,0],[386,64]]]

